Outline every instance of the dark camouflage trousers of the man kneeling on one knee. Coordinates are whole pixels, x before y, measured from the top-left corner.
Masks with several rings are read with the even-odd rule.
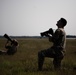
[[[51,47],[51,48],[41,50],[40,52],[38,52],[38,70],[42,70],[45,57],[53,58],[54,69],[61,68],[61,61],[64,57],[62,50]]]

